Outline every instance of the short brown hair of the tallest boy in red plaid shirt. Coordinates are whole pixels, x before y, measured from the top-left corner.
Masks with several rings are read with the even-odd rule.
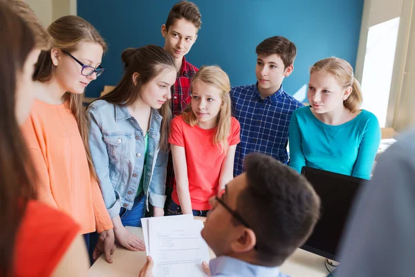
[[[202,25],[202,16],[201,12],[199,12],[198,6],[195,3],[190,1],[180,1],[174,4],[172,10],[170,10],[169,15],[167,16],[166,20],[166,30],[169,30],[169,27],[174,24],[174,21],[177,19],[185,19],[197,28],[197,30],[201,29]]]

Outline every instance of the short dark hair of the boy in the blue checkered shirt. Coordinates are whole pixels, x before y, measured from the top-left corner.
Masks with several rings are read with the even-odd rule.
[[[279,35],[275,37],[268,37],[263,42],[258,44],[255,52],[259,55],[273,55],[277,54],[284,62],[284,69],[291,64],[294,64],[295,56],[297,56],[297,48],[293,42],[290,42],[286,37]]]

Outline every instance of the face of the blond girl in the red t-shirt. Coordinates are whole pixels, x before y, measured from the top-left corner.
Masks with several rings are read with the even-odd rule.
[[[202,129],[216,127],[216,120],[221,111],[222,98],[220,89],[196,80],[192,87],[192,111]]]

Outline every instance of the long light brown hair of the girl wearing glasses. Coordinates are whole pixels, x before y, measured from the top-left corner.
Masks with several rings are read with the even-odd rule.
[[[83,42],[100,44],[104,52],[107,51],[107,44],[104,42],[100,33],[98,33],[98,30],[85,19],[75,15],[67,15],[53,21],[48,27],[48,33],[54,39],[53,48],[58,48],[62,51],[71,53]],[[43,51],[36,64],[34,79],[41,82],[49,82],[53,77],[54,69],[55,66],[53,66],[52,63],[50,51]],[[89,171],[93,177],[96,177],[91,152],[89,151],[88,120],[86,119],[86,111],[84,107],[82,107],[82,95],[67,91],[64,94],[64,100],[72,114],[75,116],[78,129],[80,130],[86,157],[88,159]]]

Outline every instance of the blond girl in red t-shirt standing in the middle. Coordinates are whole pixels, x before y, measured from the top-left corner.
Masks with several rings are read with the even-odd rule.
[[[192,80],[192,100],[172,120],[169,143],[176,181],[168,215],[206,216],[210,197],[233,178],[240,126],[230,116],[230,82],[219,66],[203,66]]]

